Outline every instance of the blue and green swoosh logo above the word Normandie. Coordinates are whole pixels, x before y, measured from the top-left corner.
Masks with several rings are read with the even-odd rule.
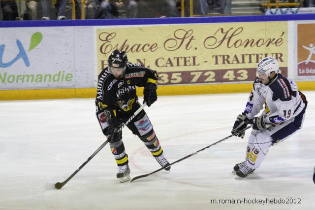
[[[43,35],[40,32],[36,32],[31,37],[30,47],[28,52],[30,52],[32,49],[34,49],[42,40]],[[26,67],[30,67],[30,61],[28,58],[28,55],[23,47],[23,44],[19,39],[16,39],[16,45],[18,46],[19,52],[15,58],[13,58],[11,61],[7,63],[3,63],[3,54],[5,49],[5,44],[0,45],[0,68],[8,68],[12,66],[16,61],[19,59],[23,59],[24,64]]]

